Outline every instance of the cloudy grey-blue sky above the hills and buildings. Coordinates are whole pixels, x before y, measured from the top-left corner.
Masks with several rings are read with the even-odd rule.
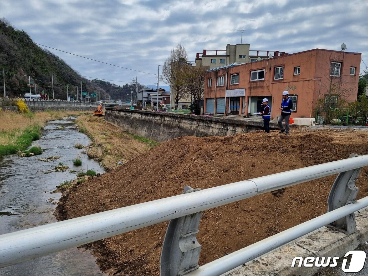
[[[194,61],[203,49],[240,43],[241,29],[251,50],[340,50],[346,43],[368,65],[367,12],[367,0],[0,0],[0,17],[36,43],[152,74],[178,43]],[[152,74],[49,50],[84,76],[130,82],[136,75],[157,84]]]

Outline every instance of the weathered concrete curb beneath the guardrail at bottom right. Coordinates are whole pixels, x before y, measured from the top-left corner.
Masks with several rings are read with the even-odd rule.
[[[354,250],[358,245],[368,240],[368,210],[364,208],[355,212],[357,232],[345,235],[327,227],[305,235],[298,240],[284,245],[268,254],[245,263],[242,268],[231,270],[228,276],[309,276],[319,268],[291,267],[296,256],[303,259],[307,256],[339,256]]]

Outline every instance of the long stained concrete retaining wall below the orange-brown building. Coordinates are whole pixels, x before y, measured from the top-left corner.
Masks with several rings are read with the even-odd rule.
[[[228,118],[160,113],[143,110],[106,108],[105,120],[136,135],[164,142],[184,135],[225,136],[263,130],[262,122],[244,122]],[[276,128],[276,124],[270,123]]]

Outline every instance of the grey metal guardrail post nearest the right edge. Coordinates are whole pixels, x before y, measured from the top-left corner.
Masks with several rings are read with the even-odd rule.
[[[355,156],[361,155],[351,153],[351,155],[349,155],[349,158]],[[361,170],[362,168],[358,168],[339,173],[331,187],[331,191],[328,196],[327,202],[329,212],[347,204],[354,203],[356,201],[355,197],[358,194],[359,188],[355,186],[355,181],[357,181]],[[350,215],[343,217],[342,219],[338,219],[335,222],[328,224],[327,227],[343,232],[347,235],[354,233],[355,231],[357,231],[355,214],[351,213]]]

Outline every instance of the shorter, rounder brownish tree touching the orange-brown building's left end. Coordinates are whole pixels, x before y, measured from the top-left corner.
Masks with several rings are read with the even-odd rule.
[[[205,68],[202,66],[185,66],[181,70],[180,83],[192,96],[192,109],[199,114],[199,102],[204,98]]]

